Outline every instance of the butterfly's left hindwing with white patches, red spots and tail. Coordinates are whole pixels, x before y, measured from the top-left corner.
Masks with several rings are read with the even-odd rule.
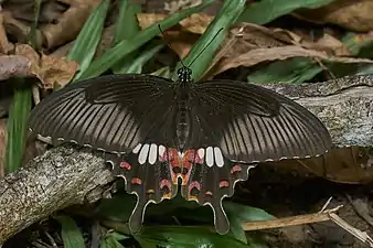
[[[138,144],[130,153],[110,159],[114,173],[125,180],[126,191],[137,196],[129,218],[132,231],[139,231],[146,207],[173,198],[178,193],[181,161],[175,149],[156,143]]]

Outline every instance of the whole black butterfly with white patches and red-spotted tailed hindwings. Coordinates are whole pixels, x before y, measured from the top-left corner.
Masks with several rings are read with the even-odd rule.
[[[193,84],[191,74],[184,66],[178,82],[128,74],[76,83],[36,105],[30,129],[105,151],[138,197],[134,231],[149,203],[175,196],[180,179],[182,196],[210,205],[217,233],[226,234],[222,200],[248,169],[322,154],[331,138],[317,117],[279,94],[243,82]]]

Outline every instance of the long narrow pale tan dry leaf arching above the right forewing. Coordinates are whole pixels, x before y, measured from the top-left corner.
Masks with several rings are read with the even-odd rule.
[[[271,48],[256,48],[238,56],[226,57],[220,61],[220,63],[216,64],[216,66],[213,68],[213,72],[210,74],[216,75],[238,66],[249,67],[262,62],[278,60],[283,61],[290,57],[313,57],[340,63],[373,63],[372,60],[367,58],[335,57],[329,56],[324,52],[306,50],[296,45],[287,45]]]

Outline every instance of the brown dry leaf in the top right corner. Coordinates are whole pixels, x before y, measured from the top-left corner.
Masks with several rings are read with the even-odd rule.
[[[303,9],[295,17],[316,23],[333,23],[348,30],[366,32],[373,30],[372,0],[335,0],[319,9]]]

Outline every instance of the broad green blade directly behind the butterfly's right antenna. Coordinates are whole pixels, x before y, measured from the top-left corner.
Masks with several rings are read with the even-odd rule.
[[[245,2],[245,0],[224,1],[217,15],[184,58],[183,63],[192,69],[192,78],[195,80],[198,80],[209,67],[216,50],[225,40],[227,30],[244,10]],[[173,73],[174,78],[178,75],[178,68],[181,66],[181,63],[179,63]]]

